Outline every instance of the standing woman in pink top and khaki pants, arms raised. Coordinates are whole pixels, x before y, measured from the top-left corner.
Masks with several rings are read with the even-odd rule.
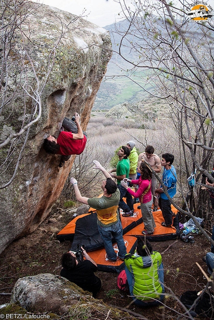
[[[155,221],[152,215],[152,192],[151,192],[151,179],[152,170],[147,166],[145,162],[141,162],[140,166],[137,167],[137,172],[139,172],[140,178],[138,180],[129,180],[127,178],[121,181],[121,185],[127,189],[127,191],[134,197],[140,200],[141,212],[143,217],[143,223],[146,230],[142,231],[143,235],[152,235],[154,233],[154,228],[156,227]],[[131,182],[132,184],[138,184],[139,188],[137,192],[134,192],[129,188],[126,182]],[[126,213],[122,215],[127,217]]]

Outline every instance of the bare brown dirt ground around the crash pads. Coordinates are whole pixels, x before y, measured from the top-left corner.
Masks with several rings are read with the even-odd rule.
[[[52,220],[53,219],[53,220]],[[66,252],[71,243],[60,243],[56,240],[57,233],[72,220],[71,214],[63,214],[55,206],[51,215],[31,235],[11,243],[0,255],[0,304],[8,303],[11,290],[18,278],[39,273],[60,274],[61,255]],[[165,285],[177,297],[187,290],[201,291],[206,284],[205,277],[196,265],[198,262],[207,272],[202,257],[210,251],[210,243],[202,235],[196,235],[195,243],[184,243],[180,239],[152,242],[153,249],[162,255],[165,269]],[[90,254],[90,253],[89,253]],[[129,309],[144,317],[144,319],[160,320],[172,319],[175,312],[182,311],[182,307],[172,297],[165,299],[169,308],[139,308],[131,303],[131,298],[118,290],[117,274],[97,272],[103,280],[103,287],[97,299],[106,304]],[[7,293],[8,295],[2,295]],[[133,315],[133,314],[132,314]],[[130,316],[131,317],[131,316]]]

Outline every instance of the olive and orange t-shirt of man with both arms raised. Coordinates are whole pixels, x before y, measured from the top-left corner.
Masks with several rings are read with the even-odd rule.
[[[97,210],[98,224],[102,227],[110,226],[118,221],[117,208],[120,199],[119,189],[111,197],[89,198],[90,207]]]

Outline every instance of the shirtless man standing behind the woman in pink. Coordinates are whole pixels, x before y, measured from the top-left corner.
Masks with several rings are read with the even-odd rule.
[[[138,163],[137,165],[140,166],[140,163],[142,160],[145,160],[146,162],[148,162],[152,169],[156,172],[159,173],[161,172],[161,161],[160,158],[154,154],[154,148],[152,146],[147,146],[145,148],[145,152],[142,152],[141,154],[139,154],[138,156]],[[153,204],[154,204],[154,208],[153,211],[157,211],[157,201],[155,201],[157,199],[157,196],[155,194],[155,189],[157,187],[157,179],[155,177],[155,175],[152,175],[152,195],[153,195]]]

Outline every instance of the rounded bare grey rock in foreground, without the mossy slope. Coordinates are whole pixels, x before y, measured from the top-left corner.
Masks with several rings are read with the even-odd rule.
[[[50,273],[18,279],[12,290],[10,304],[17,304],[29,312],[63,314],[87,292],[69,280]],[[88,297],[91,294],[88,293]],[[66,308],[67,307],[67,308]]]

